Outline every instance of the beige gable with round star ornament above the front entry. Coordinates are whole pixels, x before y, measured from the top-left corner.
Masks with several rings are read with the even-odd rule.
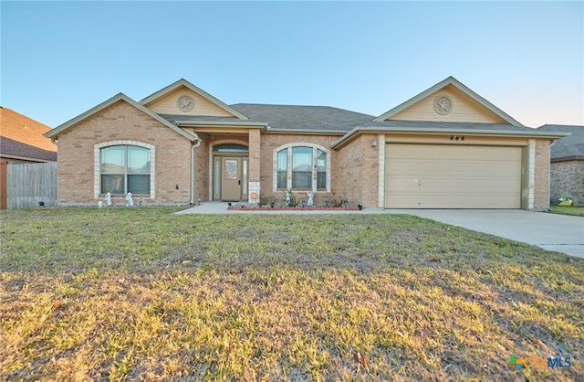
[[[190,97],[191,107],[181,110],[180,99]],[[141,105],[159,114],[182,114],[185,116],[235,117],[247,120],[247,117],[223,101],[219,101],[206,91],[197,88],[191,82],[181,79],[158,90],[140,101]]]

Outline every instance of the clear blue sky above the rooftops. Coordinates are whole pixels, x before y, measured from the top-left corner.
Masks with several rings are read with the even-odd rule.
[[[227,104],[380,115],[454,76],[519,122],[584,124],[584,2],[1,3],[2,106],[51,127],[184,78]]]

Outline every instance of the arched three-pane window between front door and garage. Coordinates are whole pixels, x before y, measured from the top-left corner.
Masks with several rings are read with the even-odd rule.
[[[313,143],[286,144],[275,152],[276,189],[327,190],[327,152]]]

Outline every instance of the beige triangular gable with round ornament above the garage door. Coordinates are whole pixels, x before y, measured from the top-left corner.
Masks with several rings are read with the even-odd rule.
[[[445,104],[442,104],[443,100]],[[386,111],[374,121],[388,120],[499,123],[523,126],[505,111],[498,109],[452,76],[390,111]]]

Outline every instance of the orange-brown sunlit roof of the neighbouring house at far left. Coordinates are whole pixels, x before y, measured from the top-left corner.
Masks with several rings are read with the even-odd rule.
[[[0,156],[40,162],[57,160],[57,145],[43,136],[50,130],[46,124],[0,107]]]

